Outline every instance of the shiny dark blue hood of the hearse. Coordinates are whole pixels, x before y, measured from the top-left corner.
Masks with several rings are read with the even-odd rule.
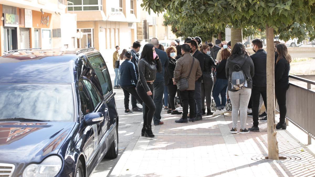
[[[57,154],[74,122],[0,122],[0,163],[40,163]]]

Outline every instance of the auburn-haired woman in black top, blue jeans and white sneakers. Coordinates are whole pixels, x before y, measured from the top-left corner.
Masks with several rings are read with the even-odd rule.
[[[226,112],[226,91],[227,91],[227,78],[226,78],[226,61],[231,55],[231,51],[229,49],[223,49],[220,52],[221,62],[216,70],[216,81],[213,89],[213,99],[215,100],[215,104],[217,106],[217,110],[213,113],[213,115],[221,115]],[[219,98],[219,94],[221,95],[221,100]]]

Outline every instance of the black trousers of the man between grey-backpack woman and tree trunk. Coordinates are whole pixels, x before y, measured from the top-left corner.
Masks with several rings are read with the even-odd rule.
[[[253,111],[253,125],[255,127],[258,126],[258,114],[259,114],[259,100],[260,95],[262,97],[262,100],[264,100],[264,105],[267,110],[267,87],[257,87],[253,85],[252,88],[252,95],[251,95],[251,101],[252,101],[252,111]]]

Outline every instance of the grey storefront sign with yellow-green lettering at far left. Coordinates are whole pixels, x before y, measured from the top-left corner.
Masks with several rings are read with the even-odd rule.
[[[4,16],[4,26],[19,26],[19,16],[17,15],[16,7],[2,5],[3,16]]]

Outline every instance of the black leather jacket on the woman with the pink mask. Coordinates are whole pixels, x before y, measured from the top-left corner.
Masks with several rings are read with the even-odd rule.
[[[162,63],[160,59],[153,60],[153,62],[148,62],[145,58],[142,58],[138,62],[139,70],[139,82],[146,90],[150,91],[148,83],[146,81],[154,81],[157,72],[162,72]]]

